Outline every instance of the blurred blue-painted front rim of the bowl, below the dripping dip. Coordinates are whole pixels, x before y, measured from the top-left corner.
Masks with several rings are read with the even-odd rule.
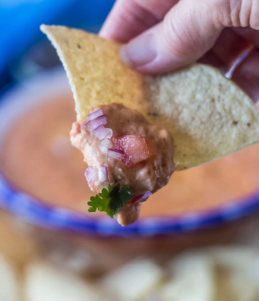
[[[151,237],[193,231],[240,218],[259,208],[259,191],[213,210],[181,216],[143,218],[130,226],[122,227],[109,217],[87,217],[69,209],[46,205],[13,188],[0,174],[0,206],[27,222],[45,228],[85,235]]]

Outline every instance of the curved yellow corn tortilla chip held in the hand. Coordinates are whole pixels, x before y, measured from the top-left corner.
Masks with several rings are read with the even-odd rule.
[[[113,102],[140,111],[172,133],[176,170],[259,141],[259,111],[218,70],[193,64],[167,75],[142,75],[120,61],[117,42],[63,26],[41,25],[41,30],[66,70],[77,119]]]

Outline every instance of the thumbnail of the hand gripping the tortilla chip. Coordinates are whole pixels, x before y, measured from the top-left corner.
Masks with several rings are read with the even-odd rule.
[[[152,34],[140,36],[120,48],[121,60],[131,67],[145,65],[157,55]]]

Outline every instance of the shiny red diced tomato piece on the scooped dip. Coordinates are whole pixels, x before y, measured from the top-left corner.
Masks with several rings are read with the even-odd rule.
[[[139,135],[115,136],[112,138],[112,142],[115,149],[124,152],[121,160],[128,167],[156,154],[151,142]]]

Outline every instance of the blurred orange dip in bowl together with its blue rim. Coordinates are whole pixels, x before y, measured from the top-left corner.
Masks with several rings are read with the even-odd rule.
[[[60,68],[24,82],[0,105],[1,206],[52,229],[101,236],[154,236],[200,229],[259,207],[259,145],[175,172],[126,227],[104,212],[88,212],[93,192],[82,154],[69,140],[76,119]]]

